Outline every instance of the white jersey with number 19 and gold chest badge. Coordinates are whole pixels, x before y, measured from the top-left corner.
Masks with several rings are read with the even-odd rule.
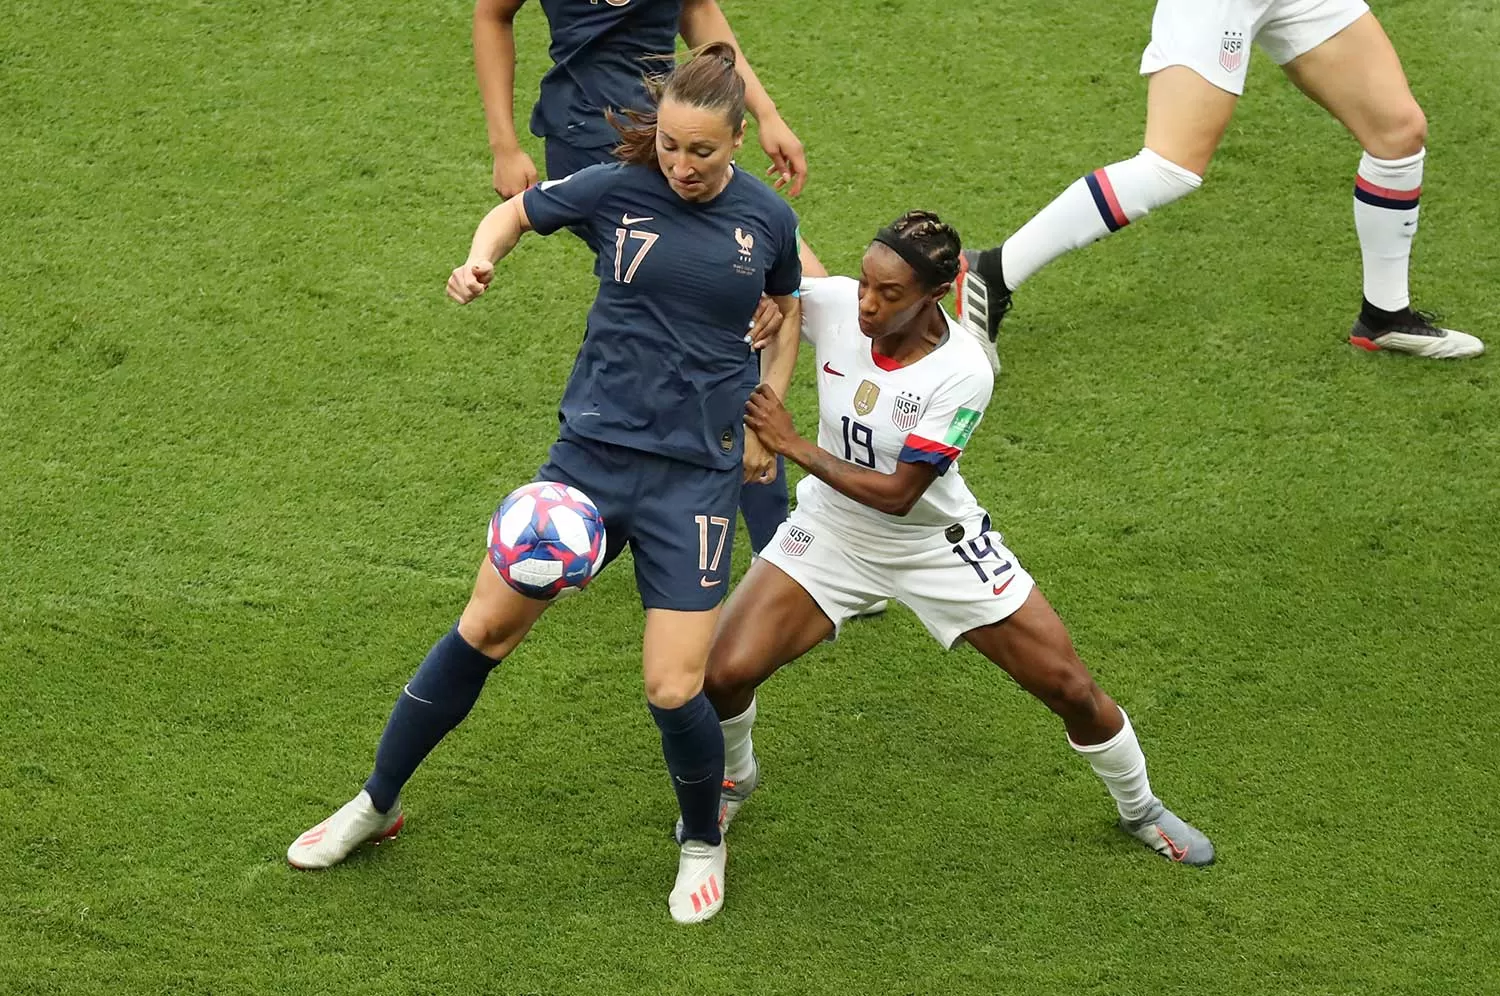
[[[892,526],[946,528],[981,513],[957,460],[984,417],[994,374],[984,346],[948,318],[948,338],[909,366],[888,366],[860,332],[860,284],[846,276],[802,279],[802,339],[818,356],[818,446],[882,474],[897,464],[932,464],[938,478],[904,516],[848,498],[812,474],[796,486],[800,508],[843,531],[891,536]]]

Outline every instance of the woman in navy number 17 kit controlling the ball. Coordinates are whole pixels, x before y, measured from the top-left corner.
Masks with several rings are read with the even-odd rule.
[[[669,898],[682,922],[706,920],[723,903],[723,740],[702,682],[729,584],[740,486],[771,464],[742,428],[756,386],[746,327],[762,292],[788,318],[762,351],[764,382],[784,392],[796,362],[796,216],[734,168],[742,120],[735,52],[710,45],[668,78],[657,116],[622,129],[626,162],[590,166],[494,208],[447,286],[459,303],[483,294],[495,261],[525,231],[584,226],[608,246],[560,436],[537,478],[594,500],[606,562],[632,548],[646,609],[646,700],[686,826]],[[328,867],[394,834],[402,786],[546,606],[507,586],[486,558],[458,627],[398,698],[364,789],[298,837],[288,861]]]

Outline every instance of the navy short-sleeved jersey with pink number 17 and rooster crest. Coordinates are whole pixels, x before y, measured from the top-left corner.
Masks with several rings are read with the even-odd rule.
[[[794,294],[796,214],[735,170],[711,201],[684,201],[656,166],[590,166],[525,194],[540,234],[582,228],[598,296],[562,393],[564,430],[728,470],[741,460],[747,363],[762,291]]]

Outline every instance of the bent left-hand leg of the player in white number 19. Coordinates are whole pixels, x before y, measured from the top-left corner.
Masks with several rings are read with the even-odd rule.
[[[834,624],[807,591],[780,567],[758,560],[729,598],[708,651],[704,690],[724,734],[724,780],[740,798],[738,812],[758,777],[752,728],[754,690],[783,664],[828,639]],[[732,813],[723,813],[732,818]],[[728,819],[723,820],[729,824]]]

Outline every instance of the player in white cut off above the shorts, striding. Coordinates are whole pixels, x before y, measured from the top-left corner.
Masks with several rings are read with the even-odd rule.
[[[1350,344],[1431,358],[1484,352],[1478,338],[1412,309],[1426,118],[1365,0],[1158,0],[1140,63],[1150,76],[1146,147],[1074,182],[1002,246],[966,252],[958,316],[994,339],[1011,291],[1032,273],[1196,190],[1245,92],[1251,42],[1364,147],[1354,231],[1365,296]]]

